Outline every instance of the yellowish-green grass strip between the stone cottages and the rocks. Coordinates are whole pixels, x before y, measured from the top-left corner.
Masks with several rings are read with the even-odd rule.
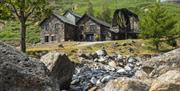
[[[114,44],[116,43],[116,46]],[[64,47],[58,47],[62,44]],[[158,53],[164,53],[174,49],[173,47],[162,44],[160,51],[155,50],[155,48],[148,43],[148,40],[118,40],[118,41],[108,41],[104,43],[98,43],[89,46],[78,46],[84,44],[84,42],[62,42],[54,44],[39,44],[36,46],[28,46],[28,54],[35,54],[36,52],[43,51],[58,51],[68,54],[70,59],[74,62],[79,62],[77,54],[82,53],[95,53],[97,50],[105,48],[109,55],[113,53],[129,55],[129,56],[143,56],[143,55],[154,55]],[[125,45],[126,44],[126,45]],[[180,41],[178,41],[178,47],[180,46]],[[129,51],[129,48],[133,49],[133,52]]]

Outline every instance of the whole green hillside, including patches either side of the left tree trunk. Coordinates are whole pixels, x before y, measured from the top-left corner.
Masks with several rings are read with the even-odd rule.
[[[141,17],[144,14],[144,9],[150,7],[153,3],[155,3],[155,1],[156,0],[91,0],[91,2],[93,3],[94,13],[96,17],[97,14],[102,11],[103,5],[111,9],[111,12],[109,12],[111,16],[113,15],[114,10],[117,8],[128,8],[137,13]],[[74,11],[82,15],[86,12],[88,0],[57,0],[56,5],[59,8],[63,8],[64,10],[76,6],[76,9]],[[169,13],[173,14],[177,20],[180,19],[180,5],[162,5],[166,7]],[[17,43],[18,45],[19,35],[19,23],[16,20],[7,21],[5,27],[2,30],[0,30],[1,41],[10,41],[14,44]],[[39,35],[40,28],[38,24],[29,22],[27,27],[27,42],[30,44],[39,42]]]

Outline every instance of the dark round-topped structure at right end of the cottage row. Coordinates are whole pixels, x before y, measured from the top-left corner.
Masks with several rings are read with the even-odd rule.
[[[112,40],[135,39],[139,34],[139,17],[126,8],[117,9],[111,31]]]

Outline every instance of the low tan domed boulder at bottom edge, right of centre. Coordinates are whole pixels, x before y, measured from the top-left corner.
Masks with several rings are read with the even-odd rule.
[[[119,78],[108,82],[104,91],[148,91],[149,86],[141,80],[132,78]]]

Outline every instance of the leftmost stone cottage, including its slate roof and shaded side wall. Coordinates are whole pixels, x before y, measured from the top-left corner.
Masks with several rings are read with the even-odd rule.
[[[75,41],[76,24],[65,16],[52,14],[40,23],[41,43]]]

